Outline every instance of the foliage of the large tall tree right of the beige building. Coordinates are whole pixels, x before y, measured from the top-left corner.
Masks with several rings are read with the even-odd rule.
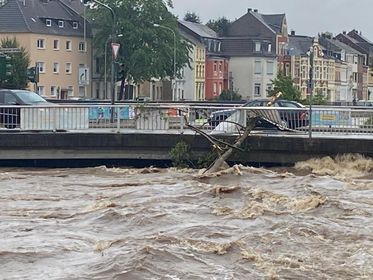
[[[123,64],[125,80],[134,83],[151,78],[172,77],[174,74],[174,42],[176,42],[176,69],[189,65],[191,46],[178,33],[177,18],[168,9],[172,2],[162,0],[101,0],[115,13],[115,38],[120,43],[116,62]],[[87,12],[97,30],[93,44],[98,55],[104,56],[105,43],[110,52],[110,34],[113,20],[110,10],[101,5]],[[97,23],[97,24],[96,24]],[[158,24],[155,27],[153,24]],[[175,37],[174,37],[175,34]],[[119,36],[118,36],[119,35]],[[174,40],[176,39],[176,40]],[[110,57],[110,55],[108,55]],[[111,61],[108,61],[108,66]],[[110,67],[108,67],[110,69]]]

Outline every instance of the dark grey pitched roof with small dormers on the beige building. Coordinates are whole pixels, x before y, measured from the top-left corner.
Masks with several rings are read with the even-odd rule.
[[[46,19],[52,20],[52,26],[46,25]],[[64,21],[63,28],[58,21]],[[73,28],[73,22],[79,27]],[[65,36],[84,36],[84,19],[60,0],[8,0],[0,7],[0,32],[30,32],[37,34],[56,34]],[[87,27],[87,36],[91,31]]]

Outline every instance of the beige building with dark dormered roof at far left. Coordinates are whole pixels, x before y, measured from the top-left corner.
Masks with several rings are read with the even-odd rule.
[[[40,95],[90,97],[91,32],[67,0],[5,0],[0,4],[0,39],[15,38],[39,70]]]

